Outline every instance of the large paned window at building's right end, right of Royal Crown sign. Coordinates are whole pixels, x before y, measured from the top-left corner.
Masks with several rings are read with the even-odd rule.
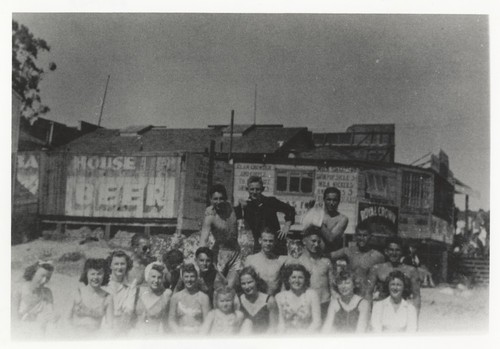
[[[408,208],[430,208],[431,182],[428,175],[403,172],[401,206]]]

